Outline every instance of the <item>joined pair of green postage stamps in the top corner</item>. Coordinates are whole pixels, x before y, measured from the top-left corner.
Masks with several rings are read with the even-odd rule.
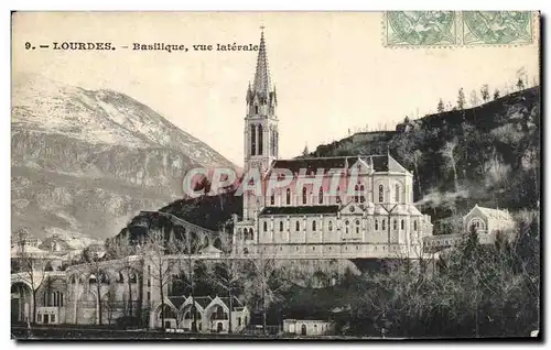
[[[533,41],[529,11],[388,11],[386,46],[522,45]]]

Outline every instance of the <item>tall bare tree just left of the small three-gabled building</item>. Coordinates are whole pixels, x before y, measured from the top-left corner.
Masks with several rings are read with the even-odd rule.
[[[168,253],[170,242],[166,241],[164,232],[162,229],[151,229],[145,237],[143,242],[143,251],[145,255],[147,263],[151,266],[151,277],[155,282],[155,287],[159,288],[159,294],[161,298],[161,320],[162,328],[164,328],[164,287],[171,281],[171,273],[174,267],[174,260],[168,259],[165,255]]]

